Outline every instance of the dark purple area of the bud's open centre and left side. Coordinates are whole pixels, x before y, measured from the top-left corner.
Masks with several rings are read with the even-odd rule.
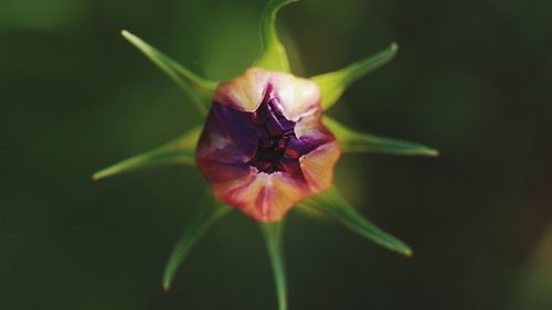
[[[277,93],[270,84],[255,111],[241,111],[215,101],[200,138],[198,162],[204,167],[210,167],[206,162],[211,161],[244,164],[265,173],[282,171],[304,179],[299,159],[333,137],[312,125],[309,135],[298,137],[295,129],[300,121],[291,121],[284,116]],[[212,140],[216,137],[224,137],[229,143]],[[245,161],[244,156],[247,158]]]

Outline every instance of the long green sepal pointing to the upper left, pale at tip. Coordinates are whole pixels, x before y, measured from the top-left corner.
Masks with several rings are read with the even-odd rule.
[[[206,81],[195,75],[132,33],[123,30],[121,34],[174,81],[187,95],[191,96],[195,106],[202,114],[206,114],[217,83]]]

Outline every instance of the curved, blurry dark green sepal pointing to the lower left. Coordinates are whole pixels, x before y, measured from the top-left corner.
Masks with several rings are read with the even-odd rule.
[[[198,213],[188,223],[184,232],[180,236],[177,245],[169,256],[169,260],[164,266],[162,287],[164,291],[169,291],[178,268],[190,253],[195,243],[209,231],[209,228],[226,215],[232,209],[213,200],[211,204],[201,207]]]

